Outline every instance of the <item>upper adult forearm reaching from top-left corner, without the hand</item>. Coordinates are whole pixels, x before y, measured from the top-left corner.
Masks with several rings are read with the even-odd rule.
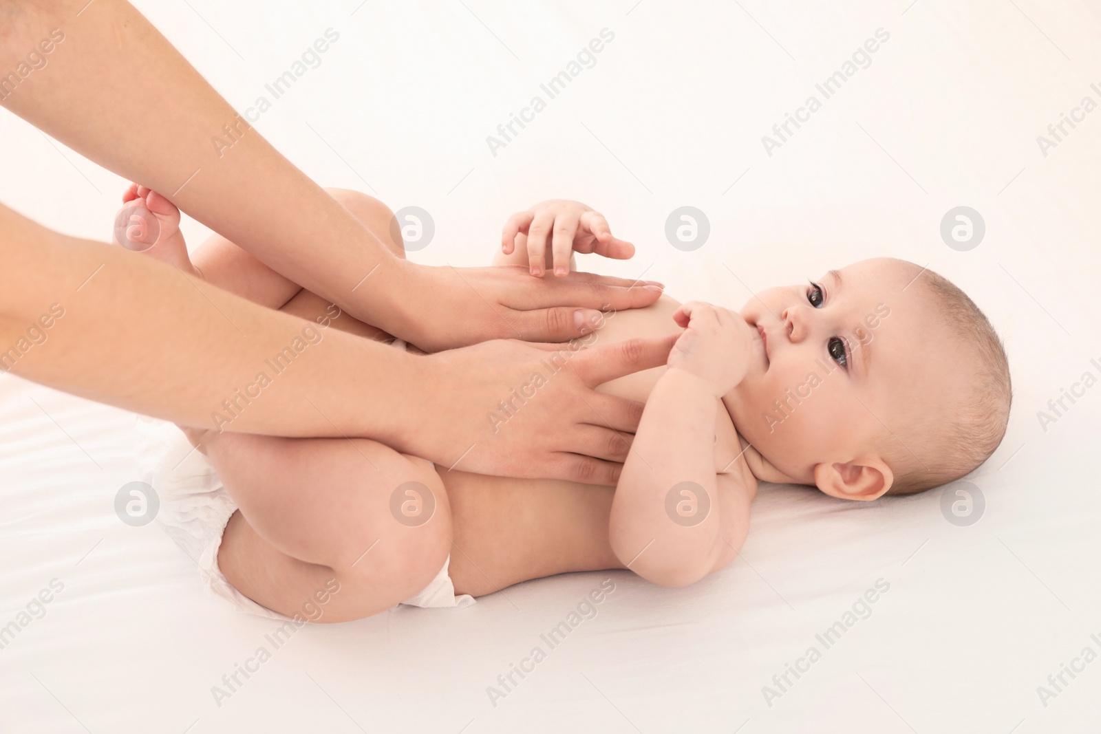
[[[164,194],[296,283],[401,333],[397,294],[412,267],[275,151],[133,7],[86,3],[6,3],[0,74],[32,51],[46,64],[0,84],[0,105]]]

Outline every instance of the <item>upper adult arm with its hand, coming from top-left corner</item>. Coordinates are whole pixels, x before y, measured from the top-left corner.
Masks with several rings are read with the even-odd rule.
[[[7,86],[0,79],[0,105],[426,351],[495,338],[565,341],[592,316],[575,320],[579,308],[636,308],[661,295],[585,273],[537,281],[400,260],[379,239],[389,232],[364,229],[280,155],[129,3],[0,0],[0,74],[29,69],[32,52],[47,62]],[[233,145],[214,145],[227,129]]]

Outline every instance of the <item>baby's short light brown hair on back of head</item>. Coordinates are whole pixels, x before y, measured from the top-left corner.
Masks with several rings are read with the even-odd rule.
[[[985,314],[951,281],[933,271],[923,271],[917,283],[977,366],[967,377],[966,397],[948,416],[914,415],[908,423],[906,445],[920,457],[898,440],[887,445],[884,460],[895,475],[887,494],[914,494],[940,486],[982,464],[1005,436],[1013,401],[1005,348]]]

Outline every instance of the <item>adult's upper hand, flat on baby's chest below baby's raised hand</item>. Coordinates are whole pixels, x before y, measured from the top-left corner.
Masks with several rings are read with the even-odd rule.
[[[562,342],[592,331],[598,310],[642,308],[662,288],[592,273],[536,280],[525,267],[404,263],[397,333],[426,352],[490,339]]]

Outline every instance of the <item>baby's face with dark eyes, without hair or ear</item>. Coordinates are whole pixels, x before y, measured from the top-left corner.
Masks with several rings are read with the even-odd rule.
[[[763,291],[740,311],[757,328],[757,349],[723,403],[791,481],[814,484],[819,463],[859,462],[913,410],[957,394],[956,347],[913,283],[919,272],[865,260],[815,284]]]

